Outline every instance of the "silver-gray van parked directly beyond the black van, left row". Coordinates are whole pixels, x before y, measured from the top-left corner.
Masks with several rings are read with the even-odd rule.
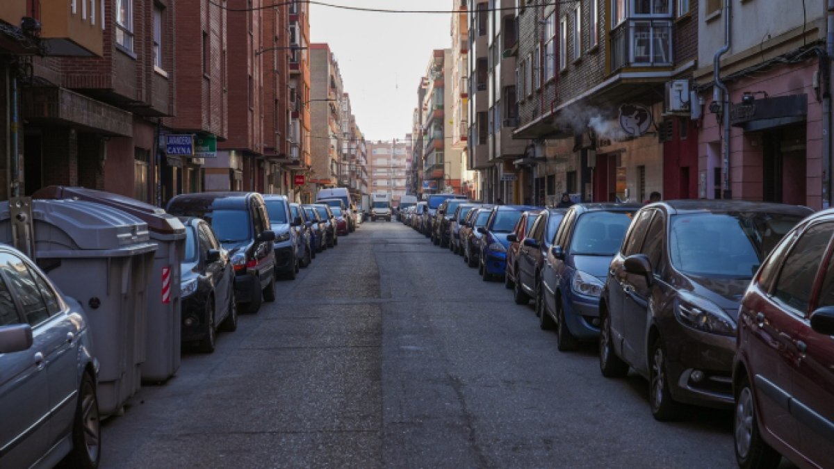
[[[337,199],[339,203],[341,200]],[[264,195],[269,225],[275,233],[275,278],[294,280],[299,273],[299,238],[293,229],[293,216],[286,195]]]

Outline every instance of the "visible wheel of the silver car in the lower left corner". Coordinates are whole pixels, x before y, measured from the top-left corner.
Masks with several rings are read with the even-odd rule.
[[[101,421],[93,376],[84,373],[78,388],[78,404],[73,419],[73,450],[67,455],[70,467],[95,469],[101,459]]]

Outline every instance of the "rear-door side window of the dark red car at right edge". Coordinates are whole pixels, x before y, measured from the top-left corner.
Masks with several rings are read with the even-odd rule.
[[[831,223],[807,229],[787,255],[773,295],[786,306],[804,314],[811,300],[816,272],[831,240]]]

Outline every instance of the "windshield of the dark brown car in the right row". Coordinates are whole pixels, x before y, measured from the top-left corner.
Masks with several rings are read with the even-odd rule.
[[[681,214],[671,217],[669,255],[691,275],[751,278],[801,217],[767,213]]]

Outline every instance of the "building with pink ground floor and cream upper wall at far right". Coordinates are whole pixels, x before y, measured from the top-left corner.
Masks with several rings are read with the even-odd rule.
[[[706,0],[695,13],[703,100],[697,195],[829,206],[825,3]],[[726,33],[730,47],[716,56]],[[715,86],[716,57],[726,90]]]

